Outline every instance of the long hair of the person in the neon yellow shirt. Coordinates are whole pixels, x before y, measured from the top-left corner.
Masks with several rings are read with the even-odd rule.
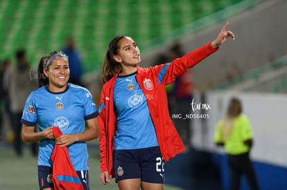
[[[232,126],[234,118],[238,117],[242,113],[242,105],[240,99],[233,97],[229,101],[227,108],[227,113],[225,115],[225,120],[223,124],[223,140],[229,138],[230,133],[232,132]]]

